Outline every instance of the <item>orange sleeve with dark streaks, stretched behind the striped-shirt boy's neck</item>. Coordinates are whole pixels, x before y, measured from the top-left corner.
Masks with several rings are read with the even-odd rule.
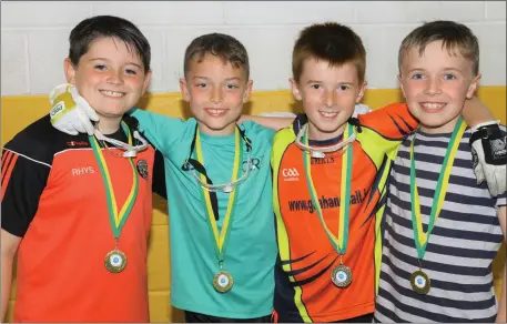
[[[392,103],[369,113],[359,114],[357,119],[362,126],[395,141],[405,139],[418,124],[405,103]]]

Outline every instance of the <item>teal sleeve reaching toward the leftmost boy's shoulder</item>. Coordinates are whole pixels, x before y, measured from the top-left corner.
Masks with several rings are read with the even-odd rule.
[[[185,130],[195,125],[195,120],[184,121],[159,113],[133,108],[129,114],[139,121],[141,133],[161,151],[163,155],[171,152],[173,144],[185,135]]]

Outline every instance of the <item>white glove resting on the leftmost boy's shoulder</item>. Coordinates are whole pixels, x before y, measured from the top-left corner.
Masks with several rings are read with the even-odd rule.
[[[51,102],[51,124],[57,130],[77,135],[88,133],[93,135],[91,121],[99,121],[99,115],[82,98],[74,85],[64,83],[57,85],[49,94]]]

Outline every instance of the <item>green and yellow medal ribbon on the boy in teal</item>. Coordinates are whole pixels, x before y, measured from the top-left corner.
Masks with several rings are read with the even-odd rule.
[[[197,155],[197,161],[204,165],[204,158],[202,154],[202,148],[201,148],[201,136],[200,132],[196,131],[195,133],[195,151]],[[241,145],[241,136],[240,136],[240,130],[235,128],[234,132],[234,164],[232,168],[232,181],[234,182],[237,180],[239,174],[240,174],[240,165],[241,161],[243,161],[243,150]],[[200,173],[200,178],[203,182],[206,182],[206,176],[202,173]],[[233,221],[233,215],[234,215],[234,203],[237,198],[237,185],[233,188],[233,190],[229,194],[229,203],[227,203],[227,210],[225,212],[225,219],[222,224],[222,231],[219,233],[219,226],[216,225],[216,220],[219,219],[219,215],[214,214],[213,206],[211,203],[211,198],[210,198],[210,192],[205,189],[202,189],[202,193],[204,196],[204,203],[206,205],[206,214],[207,214],[207,223],[209,223],[209,229],[214,237],[214,243],[213,246],[215,249],[215,254],[216,259],[219,260],[219,263],[222,264],[225,260],[225,249],[229,243],[229,236],[231,234],[231,227],[232,227],[232,221]],[[216,209],[217,212],[217,209]]]

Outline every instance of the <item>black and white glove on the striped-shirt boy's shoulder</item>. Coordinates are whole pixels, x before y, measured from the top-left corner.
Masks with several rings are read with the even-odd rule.
[[[477,184],[486,181],[491,196],[504,194],[507,181],[506,135],[498,122],[485,122],[473,128],[469,143]]]

